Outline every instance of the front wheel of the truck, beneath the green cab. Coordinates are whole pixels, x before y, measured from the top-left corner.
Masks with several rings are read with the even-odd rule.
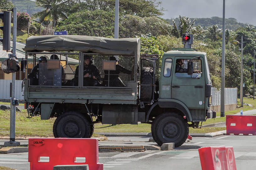
[[[177,113],[163,113],[151,125],[152,137],[162,146],[163,143],[174,143],[175,147],[182,145],[189,135],[187,121]]]

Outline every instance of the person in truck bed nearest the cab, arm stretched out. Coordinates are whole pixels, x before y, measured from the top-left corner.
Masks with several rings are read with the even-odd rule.
[[[111,56],[109,60],[116,61],[114,56]],[[119,77],[119,73],[131,74],[130,70],[125,69],[123,66],[120,66],[116,63],[115,70],[104,70],[104,79],[103,86],[108,86],[108,78],[109,78],[109,87],[126,87],[123,81]]]

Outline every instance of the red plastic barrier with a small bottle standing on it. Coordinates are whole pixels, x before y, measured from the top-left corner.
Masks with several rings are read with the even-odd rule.
[[[256,135],[256,116],[252,115],[226,115],[227,134]]]

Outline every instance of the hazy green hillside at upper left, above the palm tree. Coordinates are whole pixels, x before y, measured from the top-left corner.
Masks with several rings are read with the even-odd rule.
[[[12,3],[17,7],[19,12],[27,12],[30,16],[36,12],[44,10],[43,8],[37,7],[34,1],[29,0],[11,0]]]

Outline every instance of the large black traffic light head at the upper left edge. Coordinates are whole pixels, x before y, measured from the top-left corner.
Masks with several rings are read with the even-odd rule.
[[[3,31],[3,38],[0,38],[0,41],[3,43],[3,50],[9,51],[11,44],[11,11],[0,12],[0,18],[3,21],[3,26],[0,27]]]

